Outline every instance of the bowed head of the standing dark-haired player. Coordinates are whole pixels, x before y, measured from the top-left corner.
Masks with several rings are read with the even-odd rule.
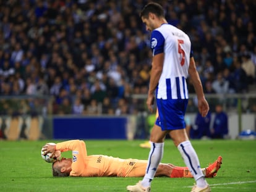
[[[158,28],[164,19],[163,7],[156,2],[150,2],[143,7],[140,12],[140,18],[146,25],[146,29],[148,31],[152,31],[155,28]]]

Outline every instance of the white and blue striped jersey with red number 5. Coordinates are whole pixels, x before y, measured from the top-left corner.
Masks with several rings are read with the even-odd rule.
[[[164,53],[163,71],[156,88],[157,99],[188,99],[186,78],[192,57],[189,36],[173,25],[163,24],[151,33],[153,56]]]

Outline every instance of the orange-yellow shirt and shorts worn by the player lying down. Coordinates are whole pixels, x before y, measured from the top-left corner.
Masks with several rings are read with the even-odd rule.
[[[85,142],[70,140],[56,144],[56,150],[72,151],[72,170],[70,176],[77,177],[138,177],[143,175],[147,161],[139,159],[120,159],[118,157],[87,156]]]

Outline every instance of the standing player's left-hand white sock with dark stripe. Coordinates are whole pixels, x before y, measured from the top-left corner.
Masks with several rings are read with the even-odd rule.
[[[158,168],[158,165],[160,164],[161,159],[163,157],[164,143],[150,142],[150,144],[151,144],[151,149],[148,155],[147,169],[141,183],[142,186],[145,186],[145,187],[151,185],[151,181],[155,177],[156,169]]]

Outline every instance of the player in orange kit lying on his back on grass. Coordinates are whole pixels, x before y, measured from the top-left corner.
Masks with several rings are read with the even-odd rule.
[[[46,144],[45,154],[52,152],[61,154],[64,151],[72,151],[73,158],[62,158],[52,165],[53,176],[66,177],[143,177],[147,167],[147,161],[139,159],[120,159],[104,155],[87,156],[85,142],[82,140],[70,140],[57,143],[55,146]],[[59,152],[60,151],[60,152]],[[205,177],[215,177],[222,164],[222,157],[206,168],[203,168]],[[160,164],[156,170],[156,177],[190,177],[192,174],[187,167],[177,167],[173,164]]]

